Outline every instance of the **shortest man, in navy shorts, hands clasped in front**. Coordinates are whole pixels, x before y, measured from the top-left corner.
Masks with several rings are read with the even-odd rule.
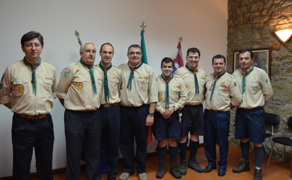
[[[162,74],[158,76],[158,99],[156,112],[154,113],[153,134],[158,140],[159,169],[157,178],[163,178],[166,172],[165,157],[166,143],[168,141],[168,151],[170,157],[170,173],[177,179],[181,178],[178,172],[177,155],[180,139],[181,125],[179,110],[183,108],[187,101],[187,88],[180,76],[173,75],[173,60],[169,57],[161,61]]]

